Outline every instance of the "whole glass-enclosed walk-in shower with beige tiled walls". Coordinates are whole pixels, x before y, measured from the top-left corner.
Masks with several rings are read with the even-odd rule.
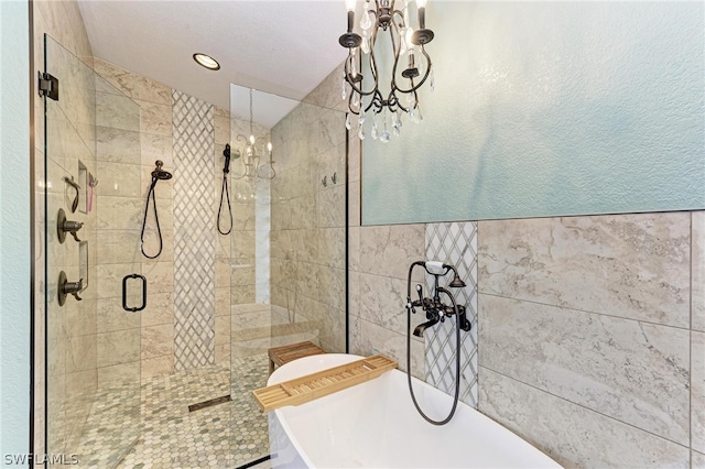
[[[346,348],[345,114],[237,86],[231,109],[177,90],[134,101],[130,84],[111,85],[51,37],[45,51],[59,94],[44,98],[36,452],[99,468],[268,458],[250,399],[268,348]],[[169,109],[159,123],[144,110],[156,106]],[[271,179],[238,179],[245,159],[214,159],[226,145],[246,154],[231,135],[250,129],[272,143]],[[230,222],[217,223],[218,201]],[[82,223],[77,239],[59,242],[61,210],[74,223],[62,226]],[[59,304],[61,272],[80,301]],[[134,279],[142,290],[124,287]]]

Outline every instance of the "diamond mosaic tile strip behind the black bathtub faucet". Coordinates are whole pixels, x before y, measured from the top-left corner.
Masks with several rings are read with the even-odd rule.
[[[477,222],[426,225],[426,259],[453,264],[467,284],[448,288],[456,294],[458,305],[467,308],[473,324],[469,332],[460,331],[460,401],[477,408]],[[451,282],[447,276],[445,283]],[[445,286],[442,280],[441,285]],[[426,275],[431,291],[433,276]],[[455,392],[455,320],[446,320],[425,334],[426,382],[447,394]]]

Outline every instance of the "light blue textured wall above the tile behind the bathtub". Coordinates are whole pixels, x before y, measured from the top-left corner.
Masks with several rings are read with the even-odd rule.
[[[364,223],[705,208],[702,2],[427,17],[436,90],[423,123],[364,141]]]

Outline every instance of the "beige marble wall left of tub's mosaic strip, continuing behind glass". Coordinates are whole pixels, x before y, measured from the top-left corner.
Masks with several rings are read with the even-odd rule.
[[[321,137],[302,133],[306,129],[288,129],[290,133],[303,135],[301,142],[284,142],[299,149],[297,157],[292,159],[286,168],[295,183],[272,186],[272,303],[284,307],[295,304],[299,310],[308,312],[323,308],[326,314],[316,316],[327,321],[321,343],[327,350],[336,351],[345,350],[341,305],[345,298],[345,220],[339,218],[344,210],[338,208],[344,204],[345,193],[341,186],[329,182],[333,174],[340,177],[346,170],[345,134],[337,137],[338,120],[344,122],[346,110],[346,102],[340,99],[341,77],[343,66],[339,66],[304,99],[305,103],[318,108],[308,111],[312,108],[304,106],[300,111],[305,114],[305,109],[310,114],[292,114],[295,120],[291,120],[307,123],[319,116],[328,121],[324,128],[336,130],[336,145],[313,164],[307,164],[299,156],[306,155],[305,141],[312,137],[316,141]],[[322,113],[319,108],[336,112]],[[424,259],[424,226],[360,227],[360,141],[350,134],[347,144],[350,352],[384,353],[398,360],[400,368],[405,370],[406,269],[411,262]],[[328,187],[322,186],[324,176]],[[314,201],[317,204],[313,210],[315,215],[310,212]],[[297,225],[300,219],[314,217],[323,228],[316,230]],[[415,281],[423,282],[423,275],[419,274]],[[308,292],[316,285],[321,286],[322,295],[310,297]],[[421,378],[425,373],[423,348],[423,341],[412,340],[412,371]]]

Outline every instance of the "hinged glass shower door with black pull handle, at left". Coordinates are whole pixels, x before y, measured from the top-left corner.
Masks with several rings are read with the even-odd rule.
[[[48,36],[44,58],[45,452],[116,467],[140,435],[140,107]]]

